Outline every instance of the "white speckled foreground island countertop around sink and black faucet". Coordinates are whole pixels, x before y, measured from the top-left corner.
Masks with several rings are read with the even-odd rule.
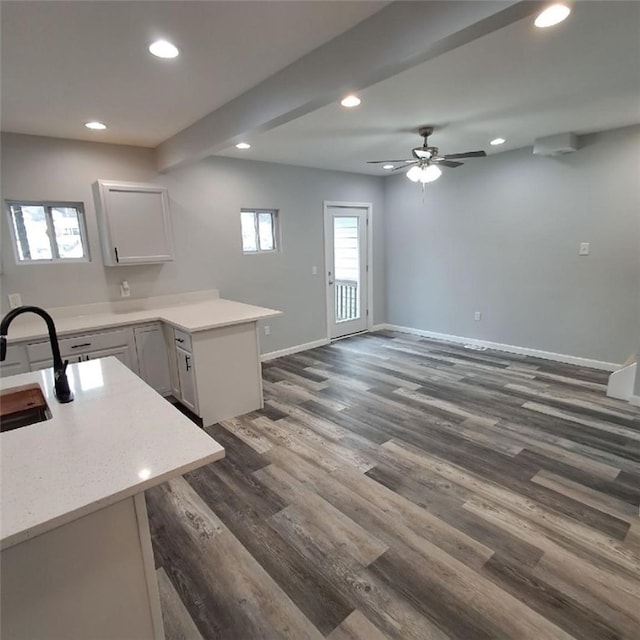
[[[13,327],[12,327],[13,328]],[[224,449],[113,357],[0,379],[40,384],[52,418],[0,434],[0,548],[40,535],[224,457]]]

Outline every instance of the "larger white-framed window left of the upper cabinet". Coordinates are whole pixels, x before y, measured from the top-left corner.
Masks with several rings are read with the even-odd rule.
[[[89,244],[82,204],[7,202],[16,262],[86,262]]]

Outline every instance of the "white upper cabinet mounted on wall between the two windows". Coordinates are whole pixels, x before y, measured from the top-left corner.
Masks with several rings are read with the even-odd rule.
[[[164,187],[98,180],[93,189],[105,266],[173,260],[169,194]]]

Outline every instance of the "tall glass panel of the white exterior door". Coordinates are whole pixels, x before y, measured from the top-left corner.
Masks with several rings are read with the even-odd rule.
[[[356,217],[333,219],[335,321],[360,318],[360,227]]]

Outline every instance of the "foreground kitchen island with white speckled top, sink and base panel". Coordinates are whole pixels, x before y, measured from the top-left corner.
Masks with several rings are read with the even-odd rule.
[[[2,638],[164,637],[144,490],[224,449],[113,357],[70,365],[51,417],[2,433]]]

